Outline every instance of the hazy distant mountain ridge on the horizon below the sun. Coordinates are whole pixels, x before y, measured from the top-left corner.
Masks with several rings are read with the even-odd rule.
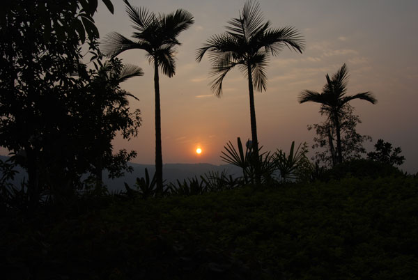
[[[6,161],[8,157],[0,156],[0,160]],[[126,182],[131,187],[136,182],[137,178],[145,177],[145,169],[148,169],[150,176],[153,176],[155,173],[155,165],[153,164],[136,164],[129,162],[129,166],[132,166],[134,171],[132,173],[125,172],[125,175],[121,178],[115,178],[111,180],[107,177],[108,173],[106,170],[103,171],[103,182],[107,186],[109,192],[118,192],[125,189],[124,183]],[[19,173],[15,176],[13,183],[17,186],[20,186],[24,178],[27,179],[27,174],[24,169],[20,166],[16,168]],[[219,172],[226,171],[228,175],[235,177],[241,176],[242,169],[231,164],[164,164],[163,166],[163,176],[166,183],[173,182],[176,183],[176,180],[187,180],[187,178],[200,178],[201,175],[208,172]],[[1,173],[0,173],[1,176]]]

